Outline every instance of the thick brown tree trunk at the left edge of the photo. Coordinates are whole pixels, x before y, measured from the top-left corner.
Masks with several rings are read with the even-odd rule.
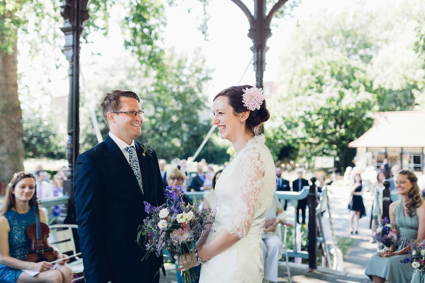
[[[0,49],[0,191],[23,170],[22,112],[17,94],[17,51]]]

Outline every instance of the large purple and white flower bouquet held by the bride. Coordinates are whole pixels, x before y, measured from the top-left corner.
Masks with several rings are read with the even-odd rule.
[[[144,202],[149,216],[139,226],[137,243],[145,245],[147,254],[155,253],[160,257],[166,250],[172,256],[177,255],[180,262],[180,256],[190,252],[194,260],[195,243],[207,225],[212,223],[211,209],[200,210],[196,201],[192,205],[185,203],[183,195],[181,186],[168,186],[165,190],[166,203],[154,207]],[[183,272],[182,276],[185,282],[196,279],[191,269]]]

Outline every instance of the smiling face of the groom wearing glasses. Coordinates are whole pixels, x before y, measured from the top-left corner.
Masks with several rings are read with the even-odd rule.
[[[131,97],[119,98],[120,108],[118,111],[141,111],[139,103],[136,99]],[[137,114],[132,117],[130,114],[125,113],[108,113],[112,114],[109,119],[109,129],[112,134],[130,144],[135,138],[142,133],[143,118]]]

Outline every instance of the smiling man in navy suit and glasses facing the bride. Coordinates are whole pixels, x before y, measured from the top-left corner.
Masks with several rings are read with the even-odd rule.
[[[158,283],[162,257],[136,243],[147,217],[143,201],[164,199],[156,153],[134,139],[143,111],[132,91],[113,90],[101,101],[109,127],[105,140],[80,154],[75,166],[74,197],[78,236],[88,283]]]

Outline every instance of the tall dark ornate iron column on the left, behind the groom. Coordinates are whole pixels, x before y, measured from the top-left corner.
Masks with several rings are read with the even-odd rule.
[[[69,196],[66,223],[75,223],[75,209],[72,182],[75,162],[79,150],[79,56],[82,23],[88,19],[88,0],[62,0],[60,14],[65,23],[60,29],[65,34],[65,56],[69,61],[69,96],[68,96],[68,143],[66,158],[68,160],[67,179],[63,182],[63,191]]]

